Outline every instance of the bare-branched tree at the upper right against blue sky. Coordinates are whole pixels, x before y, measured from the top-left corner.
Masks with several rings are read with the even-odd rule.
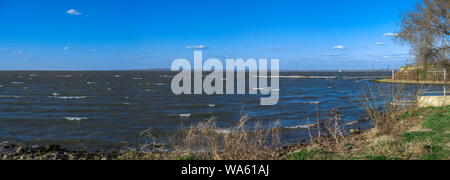
[[[402,14],[401,31],[395,39],[412,47],[421,65],[448,66],[450,0],[424,0],[414,11]]]

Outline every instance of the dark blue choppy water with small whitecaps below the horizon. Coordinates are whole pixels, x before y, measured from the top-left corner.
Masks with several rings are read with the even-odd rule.
[[[149,128],[164,137],[213,116],[225,132],[245,113],[264,127],[279,120],[283,141],[298,142],[307,138],[306,128],[316,113],[326,115],[332,108],[338,108],[349,125],[367,124],[361,90],[370,79],[389,72],[284,72],[281,75],[335,78],[280,79],[276,106],[260,106],[255,95],[175,96],[170,89],[174,75],[0,72],[0,138],[77,150],[121,149],[138,145],[139,134]]]

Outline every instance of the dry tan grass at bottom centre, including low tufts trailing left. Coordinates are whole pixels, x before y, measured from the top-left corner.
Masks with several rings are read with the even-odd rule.
[[[221,129],[216,119],[192,125],[160,145],[150,143],[147,149],[166,149],[155,153],[128,152],[123,159],[164,160],[276,160],[280,159],[278,123],[262,128],[260,123],[249,127],[249,116],[242,116],[233,127]],[[151,131],[143,136],[154,138]],[[156,148],[158,147],[158,148]]]

